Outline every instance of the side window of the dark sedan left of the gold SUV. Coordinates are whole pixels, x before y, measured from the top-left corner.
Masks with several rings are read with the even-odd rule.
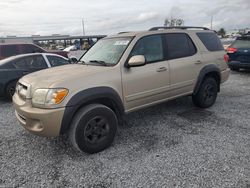
[[[22,57],[13,61],[16,68],[47,68],[47,64],[41,55]]]

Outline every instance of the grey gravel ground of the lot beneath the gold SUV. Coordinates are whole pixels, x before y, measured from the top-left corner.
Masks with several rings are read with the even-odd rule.
[[[0,101],[0,187],[250,188],[250,72],[232,73],[206,110],[184,97],[129,114],[112,147],[78,153],[42,138]]]

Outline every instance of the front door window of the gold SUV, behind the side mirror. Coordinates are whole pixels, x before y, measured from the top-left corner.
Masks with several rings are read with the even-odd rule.
[[[163,60],[161,35],[151,35],[140,39],[130,56],[134,55],[144,55],[147,63]]]

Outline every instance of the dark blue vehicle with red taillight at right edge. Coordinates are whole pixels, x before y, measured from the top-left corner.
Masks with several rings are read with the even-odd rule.
[[[237,37],[227,48],[228,66],[231,70],[250,69],[250,35]]]

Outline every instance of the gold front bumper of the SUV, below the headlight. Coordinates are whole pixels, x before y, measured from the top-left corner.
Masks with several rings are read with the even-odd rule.
[[[13,104],[16,117],[26,130],[44,137],[59,136],[65,108],[34,108],[31,100],[24,101],[17,94],[13,96]]]

